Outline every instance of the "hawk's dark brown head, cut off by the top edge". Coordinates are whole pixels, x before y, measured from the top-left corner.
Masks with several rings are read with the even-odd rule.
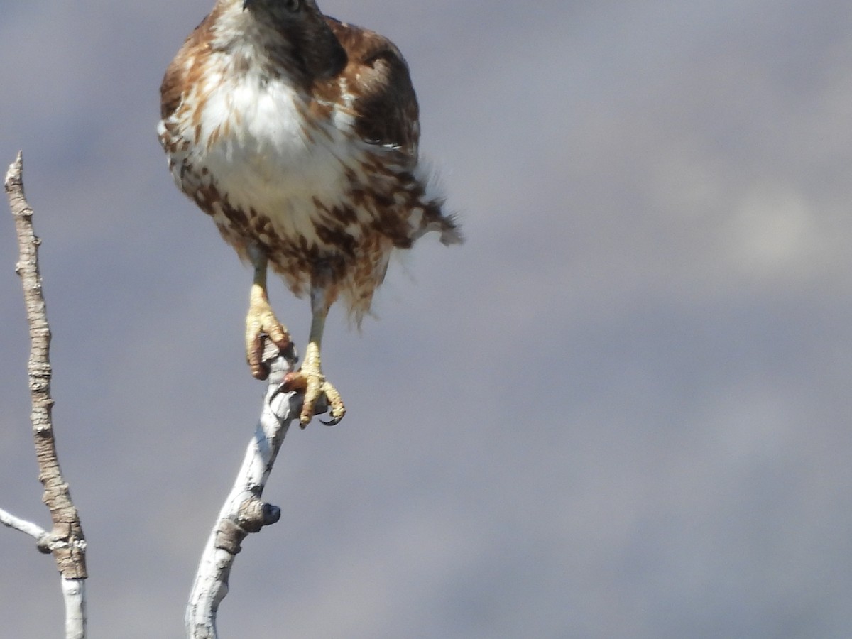
[[[309,78],[343,71],[346,51],[320,12],[316,0],[242,0],[243,11],[272,26],[289,44],[291,56]]]

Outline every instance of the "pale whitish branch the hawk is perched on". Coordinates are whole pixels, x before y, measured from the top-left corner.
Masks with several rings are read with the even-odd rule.
[[[233,488],[204,546],[187,603],[190,639],[216,639],[216,613],[227,595],[228,576],[240,544],[249,533],[257,533],[279,520],[279,508],[262,502],[261,496],[287,429],[299,416],[302,394],[281,390],[285,374],[296,366],[295,352],[291,348],[287,354],[279,354],[268,340],[267,344],[264,363],[270,372],[261,417]]]

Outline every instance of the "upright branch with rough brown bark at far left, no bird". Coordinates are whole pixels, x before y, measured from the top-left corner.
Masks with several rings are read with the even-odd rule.
[[[53,418],[54,401],[50,396],[50,327],[42,292],[42,279],[38,270],[38,245],[41,241],[32,229],[32,208],[26,202],[21,153],[9,166],[5,190],[14,216],[18,235],[19,259],[15,270],[24,288],[26,320],[30,325],[30,359],[27,365],[30,397],[32,400],[32,432],[36,446],[38,479],[44,486],[43,502],[50,511],[53,528],[39,537],[39,550],[51,552],[62,578],[62,592],[66,602],[66,638],[83,639],[85,636],[86,541],[77,509],[71,500],[68,485],[62,477],[56,455]],[[12,515],[9,515],[12,517]],[[21,527],[22,520],[12,517],[12,526],[31,534],[35,525]],[[6,523],[6,521],[3,521]],[[28,523],[28,522],[25,522]]]

